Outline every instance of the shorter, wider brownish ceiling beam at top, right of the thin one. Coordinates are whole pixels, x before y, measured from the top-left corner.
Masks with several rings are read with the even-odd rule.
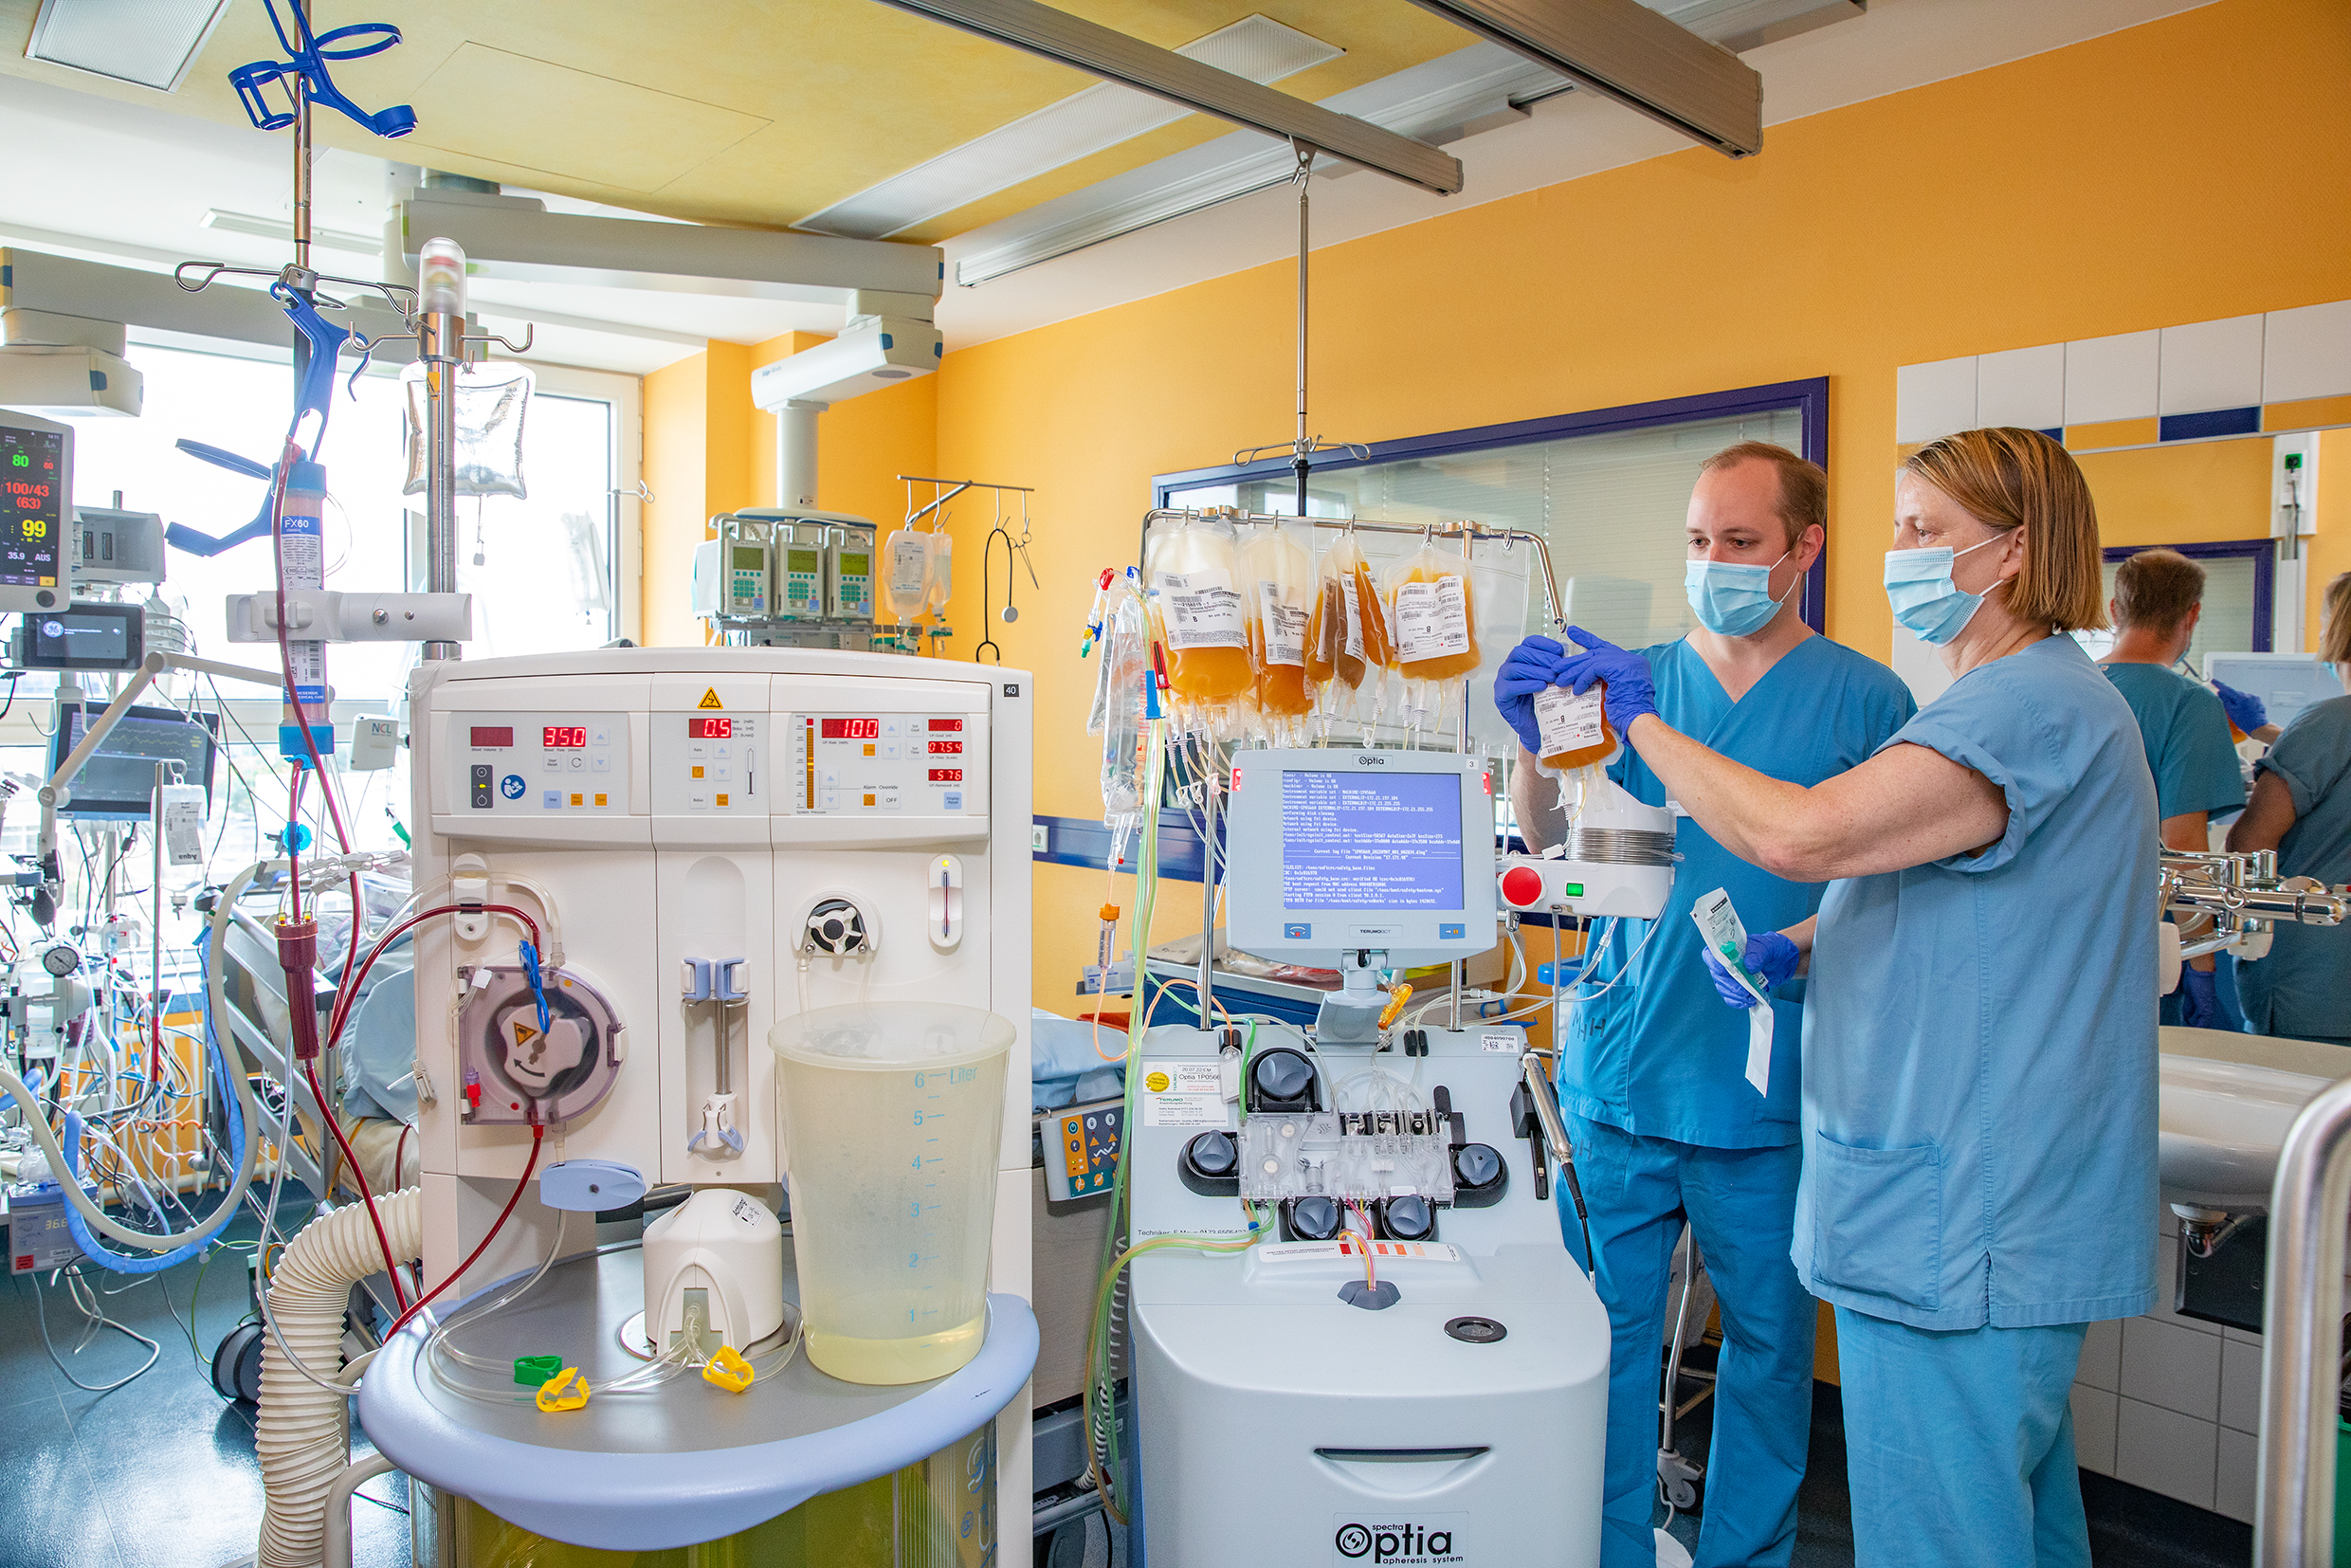
[[[896,0],[893,0],[896,2]],[[1763,150],[1763,78],[1639,0],[1413,0],[1716,153]]]

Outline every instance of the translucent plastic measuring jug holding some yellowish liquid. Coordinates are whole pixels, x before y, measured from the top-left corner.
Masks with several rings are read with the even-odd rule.
[[[776,1051],[809,1361],[924,1382],[980,1354],[1013,1025],[976,1006],[795,1013]]]

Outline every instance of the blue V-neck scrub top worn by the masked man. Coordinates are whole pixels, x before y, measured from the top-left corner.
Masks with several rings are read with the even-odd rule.
[[[1827,637],[1799,642],[1737,703],[1688,642],[1641,656],[1657,682],[1657,717],[1733,762],[1806,788],[1862,764],[1918,708],[1893,670]],[[1667,804],[1665,785],[1632,748],[1608,773],[1636,799]],[[1824,884],[1773,877],[1690,818],[1674,830],[1681,865],[1662,926],[1650,936],[1650,922],[1615,922],[1585,971],[1582,990],[1596,992],[1648,943],[1632,978],[1575,1006],[1559,1103],[1643,1138],[1712,1150],[1791,1145],[1803,1079],[1801,992],[1773,1004],[1770,1095],[1759,1095],[1747,1084],[1747,1013],[1726,1009],[1714,992],[1690,905],[1726,889],[1747,931],[1780,931],[1820,907]]]

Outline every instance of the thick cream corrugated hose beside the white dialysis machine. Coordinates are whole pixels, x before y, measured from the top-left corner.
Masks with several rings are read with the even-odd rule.
[[[376,1218],[400,1262],[423,1258],[423,1194],[404,1187],[376,1199]],[[259,1568],[317,1568],[324,1552],[327,1490],[350,1458],[350,1403],[287,1363],[287,1352],[320,1375],[341,1361],[350,1286],[383,1272],[367,1208],[324,1213],[294,1237],[270,1274],[277,1338],[261,1342],[261,1420],[254,1448],[268,1509]]]

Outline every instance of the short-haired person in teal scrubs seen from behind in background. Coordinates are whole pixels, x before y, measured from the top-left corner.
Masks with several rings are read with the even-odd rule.
[[[2156,776],[2163,849],[2212,849],[2210,818],[2245,804],[2245,778],[2229,741],[2229,712],[2210,686],[2172,665],[2186,658],[2203,618],[2205,571],[2177,550],[2139,550],[2114,569],[2114,651],[2099,661],[2106,679],[2130,703]],[[2241,701],[2255,701],[2236,693]],[[2191,922],[2184,936],[2210,931]],[[2198,1030],[2238,1027],[2236,997],[2222,997],[2215,957],[2189,959],[2179,990],[2163,999],[2163,1023]]]

